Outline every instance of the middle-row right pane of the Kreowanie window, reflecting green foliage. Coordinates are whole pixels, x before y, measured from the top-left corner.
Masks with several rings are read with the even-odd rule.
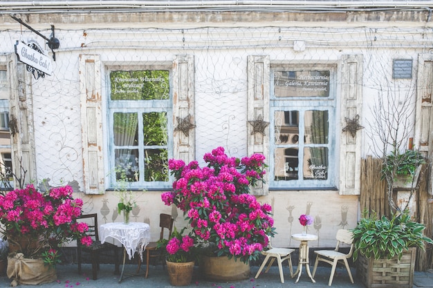
[[[167,113],[143,113],[143,135],[146,146],[167,145]]]

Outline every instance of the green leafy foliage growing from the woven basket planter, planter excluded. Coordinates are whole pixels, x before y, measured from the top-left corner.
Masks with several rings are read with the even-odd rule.
[[[425,242],[433,244],[433,240],[423,235],[425,225],[410,219],[409,211],[393,215],[390,219],[383,216],[377,218],[375,214],[362,219],[353,232],[353,260],[358,255],[366,258],[391,259],[398,256],[401,259],[403,251],[409,247],[425,249]]]

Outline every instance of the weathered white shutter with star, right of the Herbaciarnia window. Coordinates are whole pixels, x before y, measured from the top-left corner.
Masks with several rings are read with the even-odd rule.
[[[343,55],[341,60],[340,127],[347,119],[362,120],[362,55]],[[340,195],[360,194],[361,130],[355,137],[340,130]]]

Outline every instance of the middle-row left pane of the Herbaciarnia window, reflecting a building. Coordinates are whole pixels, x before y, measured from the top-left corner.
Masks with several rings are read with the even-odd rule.
[[[297,144],[299,141],[299,111],[275,111],[275,143]]]

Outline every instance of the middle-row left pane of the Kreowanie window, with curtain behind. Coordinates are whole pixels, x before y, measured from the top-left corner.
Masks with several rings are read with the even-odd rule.
[[[137,113],[113,113],[113,117],[114,144],[116,146],[137,146]]]

